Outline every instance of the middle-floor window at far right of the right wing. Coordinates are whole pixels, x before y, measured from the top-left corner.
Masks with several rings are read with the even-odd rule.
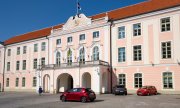
[[[162,59],[171,58],[171,42],[162,42],[161,50],[162,50]]]

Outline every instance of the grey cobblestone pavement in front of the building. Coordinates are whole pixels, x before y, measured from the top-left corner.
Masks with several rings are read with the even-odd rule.
[[[97,95],[95,102],[61,102],[59,94],[4,92],[0,108],[180,108],[180,95]]]

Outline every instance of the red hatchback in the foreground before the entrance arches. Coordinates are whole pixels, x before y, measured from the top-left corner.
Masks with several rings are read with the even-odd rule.
[[[89,88],[73,88],[61,94],[60,100],[65,101],[87,101],[93,102],[96,99],[96,94]]]

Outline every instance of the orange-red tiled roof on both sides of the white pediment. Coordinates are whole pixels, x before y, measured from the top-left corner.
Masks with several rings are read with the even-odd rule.
[[[119,8],[116,10],[112,10],[109,12],[100,13],[91,18],[99,19],[106,16],[106,13],[111,20],[124,19],[136,15],[141,15],[149,12],[154,12],[158,10],[163,10],[175,6],[180,6],[180,0],[149,0],[146,2],[141,2],[135,5]],[[63,24],[53,26],[54,29],[61,28]],[[33,31],[30,33],[26,33],[20,36],[12,37],[5,41],[5,45],[18,43],[22,41],[28,41],[32,39],[42,38],[50,35],[52,27],[41,29],[38,31]]]

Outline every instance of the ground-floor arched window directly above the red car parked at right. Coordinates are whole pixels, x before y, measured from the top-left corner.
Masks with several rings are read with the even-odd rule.
[[[142,87],[142,74],[141,73],[134,74],[134,87],[135,88]]]

